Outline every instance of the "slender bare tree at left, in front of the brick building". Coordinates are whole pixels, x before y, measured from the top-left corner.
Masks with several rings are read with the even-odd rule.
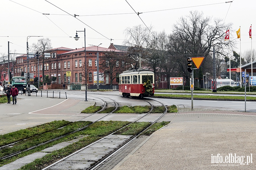
[[[42,38],[42,39],[38,39],[37,43],[33,43],[33,51],[34,53],[36,53],[37,51],[39,52],[39,54],[41,54],[41,58],[40,60],[42,60],[43,63],[43,76],[42,78],[44,78],[44,63],[46,58],[44,58],[44,53],[47,52],[48,50],[52,49],[51,46],[51,40],[49,38]]]

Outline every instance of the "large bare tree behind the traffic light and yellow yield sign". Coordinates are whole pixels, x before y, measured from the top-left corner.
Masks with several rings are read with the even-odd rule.
[[[185,76],[186,82],[189,82],[188,57],[205,57],[201,69],[203,73],[210,72],[212,70],[212,47],[222,49],[216,53],[227,56],[228,45],[232,48],[235,44],[232,41],[230,44],[224,41],[224,34],[230,26],[231,24],[223,24],[220,19],[212,21],[212,18],[204,17],[203,12],[198,11],[190,11],[188,16],[181,17],[174,24],[173,33],[169,35],[169,52],[174,59],[172,62],[176,64],[176,73]],[[198,71],[194,73],[195,78],[199,78]]]

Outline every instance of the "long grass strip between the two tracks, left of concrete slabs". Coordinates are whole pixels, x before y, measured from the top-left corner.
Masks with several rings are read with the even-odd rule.
[[[27,165],[20,168],[20,170],[39,170],[47,167],[53,162],[68,156],[69,154],[97,141],[98,139],[106,136],[110,133],[113,133],[117,129],[129,124],[129,122],[121,122],[121,121],[100,121],[96,122],[83,131],[76,132],[69,137],[72,138],[74,136],[84,135],[83,139],[80,139],[78,142],[68,145],[62,149],[53,151],[43,158],[36,159],[34,162],[28,163]],[[86,136],[88,135],[88,136]],[[63,139],[62,139],[63,140]]]

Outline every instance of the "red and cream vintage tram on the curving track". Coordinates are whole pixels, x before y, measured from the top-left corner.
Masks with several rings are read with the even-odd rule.
[[[144,84],[150,80],[154,95],[154,72],[147,69],[131,69],[119,75],[119,94],[132,97],[148,97]]]

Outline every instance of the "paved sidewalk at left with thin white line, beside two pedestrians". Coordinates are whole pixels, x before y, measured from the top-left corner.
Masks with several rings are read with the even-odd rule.
[[[86,116],[81,111],[94,101],[18,95],[17,104],[0,104],[0,134],[44,124],[54,120],[74,122]]]

